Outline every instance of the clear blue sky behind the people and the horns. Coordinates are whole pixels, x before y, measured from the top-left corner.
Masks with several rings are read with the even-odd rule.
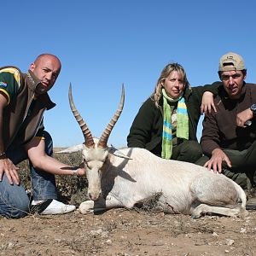
[[[125,84],[125,108],[108,143],[126,145],[132,120],[164,66],[176,61],[192,86],[218,80],[218,60],[242,55],[247,82],[256,82],[256,3],[250,1],[44,0],[1,3],[0,66],[26,72],[52,53],[62,70],[49,95],[57,106],[44,125],[55,147],[83,143],[67,91],[96,137],[108,125]],[[201,125],[198,131],[201,134]]]

